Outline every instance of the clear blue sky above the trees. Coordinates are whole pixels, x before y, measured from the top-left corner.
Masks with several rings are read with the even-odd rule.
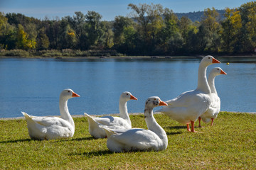
[[[205,8],[236,8],[249,1],[246,0],[155,0],[155,1],[122,1],[122,0],[0,0],[0,11],[4,13],[23,13],[25,16],[53,19],[56,16],[73,16],[75,11],[87,13],[96,11],[102,20],[113,21],[115,16],[127,16],[131,10],[128,4],[161,4],[176,13],[203,11]]]

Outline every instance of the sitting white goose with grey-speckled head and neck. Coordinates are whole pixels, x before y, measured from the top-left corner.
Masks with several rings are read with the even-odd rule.
[[[129,152],[154,150],[161,151],[167,148],[168,138],[163,128],[156,122],[153,108],[167,106],[159,97],[150,97],[146,100],[144,116],[148,130],[132,128],[129,130],[110,130],[107,132],[107,148],[112,152]]]

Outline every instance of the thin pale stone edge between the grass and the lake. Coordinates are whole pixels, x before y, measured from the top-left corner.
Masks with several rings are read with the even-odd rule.
[[[220,111],[220,112],[227,112],[227,113],[247,113],[247,114],[256,114],[256,112],[233,112],[233,111]],[[144,113],[129,113],[129,115],[143,115]],[[160,112],[155,112],[154,114],[162,114]],[[95,117],[101,117],[106,115],[119,115],[119,113],[113,114],[105,114],[105,115],[92,115]],[[85,115],[71,115],[72,118],[86,118]],[[38,117],[60,117],[60,115],[43,115]],[[25,120],[24,117],[16,117],[16,118],[0,118],[0,120]]]

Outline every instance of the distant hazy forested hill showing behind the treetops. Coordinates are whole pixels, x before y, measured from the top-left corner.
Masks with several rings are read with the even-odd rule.
[[[220,21],[224,19],[223,14],[225,13],[225,10],[216,10],[220,14]],[[178,19],[181,19],[182,16],[186,16],[189,19],[191,19],[192,22],[195,21],[201,21],[203,18],[203,11],[197,11],[197,12],[189,12],[189,13],[175,13],[176,16],[178,16]]]

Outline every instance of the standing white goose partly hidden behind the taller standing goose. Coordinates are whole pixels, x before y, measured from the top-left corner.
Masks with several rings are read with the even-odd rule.
[[[208,123],[211,120],[211,125],[213,125],[213,120],[217,118],[218,113],[220,112],[220,98],[215,89],[215,77],[221,74],[226,74],[226,73],[223,72],[223,70],[220,69],[220,67],[215,67],[210,71],[210,74],[208,76],[208,84],[210,86],[210,91],[211,91],[211,94],[210,94],[211,103],[208,110],[198,118],[200,128],[202,127],[201,119],[203,120],[204,123]]]

